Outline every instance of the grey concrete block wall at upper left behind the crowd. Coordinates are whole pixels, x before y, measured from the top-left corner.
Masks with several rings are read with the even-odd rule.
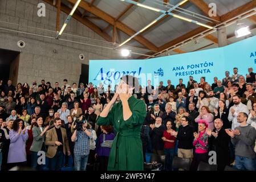
[[[27,35],[21,32],[11,32],[18,30],[30,34],[55,37],[56,33],[56,9],[46,4],[46,17],[39,17],[38,0],[1,0],[0,1],[0,48],[20,51],[18,82],[28,82],[33,80],[40,82],[41,79],[62,83],[63,78],[67,78],[68,83],[78,82],[81,73],[81,64],[88,64],[89,59],[119,59],[116,51],[109,49],[85,46],[81,44],[65,42],[42,36]],[[67,14],[60,16],[60,26],[62,26]],[[13,24],[3,23],[10,22]],[[17,25],[19,24],[19,25]],[[36,27],[36,28],[34,28]],[[43,30],[39,30],[42,28]],[[49,30],[49,31],[44,31]],[[67,34],[88,37],[97,40],[104,40],[90,28],[82,23],[71,19],[64,31]],[[101,42],[94,40],[74,38],[72,36],[62,36],[75,42],[97,44],[103,46]],[[17,42],[23,40],[25,48],[19,48]],[[54,50],[56,52],[54,53]],[[79,59],[80,53],[85,55],[84,60]]]

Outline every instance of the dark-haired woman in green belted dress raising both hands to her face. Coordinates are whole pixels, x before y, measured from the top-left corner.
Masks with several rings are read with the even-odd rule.
[[[123,76],[112,100],[97,119],[97,125],[112,125],[116,131],[108,159],[108,171],[143,170],[140,131],[147,113],[144,102],[132,96],[135,86],[139,86],[136,77]],[[121,102],[115,104],[118,96]]]

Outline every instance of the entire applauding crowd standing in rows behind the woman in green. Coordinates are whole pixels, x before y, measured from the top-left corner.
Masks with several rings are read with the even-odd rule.
[[[174,156],[190,159],[190,170],[217,154],[218,170],[233,166],[256,170],[256,74],[225,72],[213,84],[183,80],[139,86],[133,93],[145,102],[147,116],[141,127],[144,163],[146,153],[165,155],[164,169],[173,170]],[[73,83],[36,81],[31,85],[0,82],[0,167],[31,166],[35,170],[61,170],[72,158],[75,170],[107,170],[115,129],[97,125],[101,111],[115,89]],[[157,94],[158,93],[158,94]],[[121,102],[117,97],[115,103]],[[112,104],[112,103],[111,103]],[[143,106],[144,107],[144,106]],[[47,164],[38,162],[44,152]]]

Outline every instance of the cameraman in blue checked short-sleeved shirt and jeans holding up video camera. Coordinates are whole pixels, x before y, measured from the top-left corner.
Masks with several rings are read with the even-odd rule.
[[[75,132],[71,137],[74,146],[74,162],[75,171],[86,171],[88,156],[90,152],[90,139],[92,138],[92,130],[89,129],[88,123],[82,114],[79,120],[76,120],[74,126]]]

